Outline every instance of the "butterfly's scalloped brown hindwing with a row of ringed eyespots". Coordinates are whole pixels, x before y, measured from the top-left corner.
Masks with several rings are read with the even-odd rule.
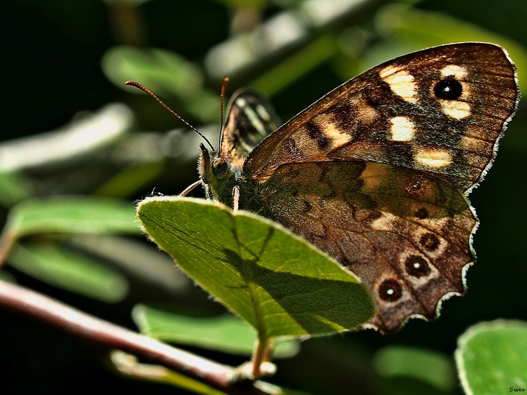
[[[443,295],[463,292],[476,220],[446,181],[373,162],[308,162],[279,166],[260,188],[270,218],[368,286],[376,328],[395,330],[411,314],[433,318]],[[427,218],[415,215],[423,210]]]

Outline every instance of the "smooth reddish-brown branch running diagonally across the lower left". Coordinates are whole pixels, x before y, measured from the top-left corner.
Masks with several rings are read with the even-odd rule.
[[[76,310],[20,285],[0,281],[0,307],[21,313],[112,350],[119,349],[160,364],[212,387],[244,395],[262,394],[255,386],[233,386],[229,381],[235,369],[168,344],[148,338],[111,322]]]

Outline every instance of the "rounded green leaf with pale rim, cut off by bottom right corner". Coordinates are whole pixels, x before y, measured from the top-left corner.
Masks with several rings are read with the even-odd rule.
[[[455,360],[469,395],[525,391],[527,322],[496,320],[474,325],[458,339]]]

